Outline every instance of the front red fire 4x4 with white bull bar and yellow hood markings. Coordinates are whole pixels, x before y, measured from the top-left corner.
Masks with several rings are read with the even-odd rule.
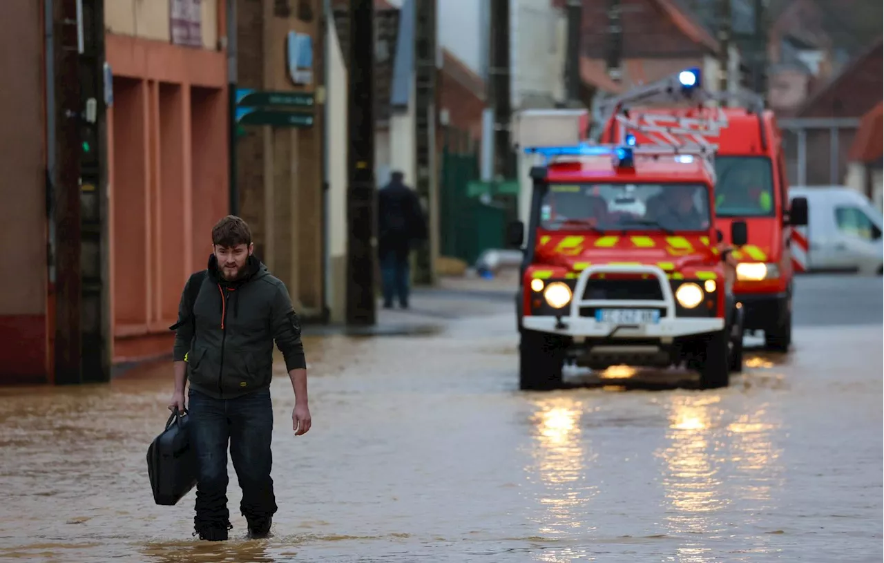
[[[669,133],[678,136],[677,132]],[[551,389],[567,362],[591,369],[685,363],[704,388],[743,365],[742,309],[714,224],[714,147],[522,147],[532,179],[517,302],[520,387]],[[527,232],[527,241],[525,233]],[[739,247],[745,222],[730,224]]]

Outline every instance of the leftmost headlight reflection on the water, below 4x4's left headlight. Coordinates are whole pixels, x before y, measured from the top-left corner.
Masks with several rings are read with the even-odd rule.
[[[596,487],[587,475],[587,437],[580,427],[585,408],[583,401],[567,396],[535,403],[534,462],[526,471],[542,506],[534,518],[538,536],[573,536],[591,529],[585,518]]]

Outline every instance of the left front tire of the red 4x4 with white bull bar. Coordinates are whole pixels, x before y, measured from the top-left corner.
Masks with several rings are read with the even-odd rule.
[[[519,388],[522,391],[559,388],[566,352],[563,337],[523,329],[519,342]]]

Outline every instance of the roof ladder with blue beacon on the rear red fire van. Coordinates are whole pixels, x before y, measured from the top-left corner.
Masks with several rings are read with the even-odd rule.
[[[613,116],[614,122],[620,127],[619,138],[622,140],[634,140],[635,135],[631,133],[642,133],[659,154],[701,156],[714,178],[714,156],[718,145],[708,138],[718,137],[720,130],[728,126],[722,104],[731,100],[759,115],[764,110],[763,98],[748,90],[706,90],[700,70],[690,68],[603,100],[598,105],[598,124],[608,126]],[[675,113],[630,110],[636,105],[652,106],[659,103],[691,103],[703,111],[697,117],[686,117]]]

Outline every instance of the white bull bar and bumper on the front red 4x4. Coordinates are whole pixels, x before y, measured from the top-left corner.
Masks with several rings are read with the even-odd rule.
[[[586,286],[593,274],[648,274],[659,280],[663,299],[660,300],[606,300],[583,299]],[[581,308],[664,308],[655,323],[614,323],[598,321],[581,316]],[[564,308],[563,308],[564,309]],[[564,311],[563,311],[564,312]],[[561,316],[525,316],[522,326],[530,331],[549,332],[571,337],[598,339],[671,339],[674,337],[705,334],[724,329],[724,319],[676,317],[675,296],[666,272],[658,266],[642,264],[592,265],[580,273],[575,291],[568,304],[568,314]]]

